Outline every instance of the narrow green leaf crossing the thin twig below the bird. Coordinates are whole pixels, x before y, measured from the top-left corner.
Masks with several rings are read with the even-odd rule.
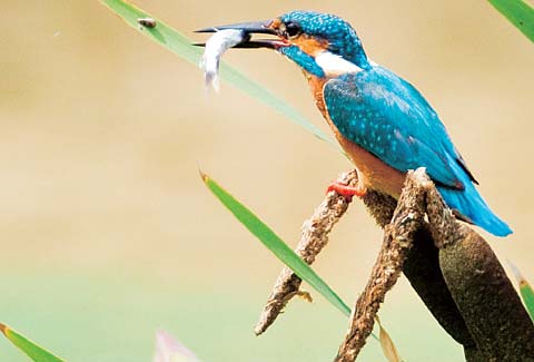
[[[284,264],[291,268],[303,281],[312,285],[328,302],[350,315],[350,309],[342,299],[326,284],[315,271],[306,264],[286,243],[281,241],[266,224],[254,215],[245,205],[228,194],[219,184],[209,176],[201,174],[202,180],[214,195],[225,205],[236,218],[253,233],[269,251],[275,254]]]

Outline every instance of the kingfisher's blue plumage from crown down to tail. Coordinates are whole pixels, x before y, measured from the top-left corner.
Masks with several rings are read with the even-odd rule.
[[[288,38],[291,45],[279,49],[308,74],[326,78],[323,92],[326,111],[343,137],[400,173],[426,167],[451,208],[494,235],[512,233],[476,190],[476,180],[434,109],[411,84],[368,61],[348,22],[313,11],[291,11],[278,20],[284,27],[297,26],[306,39],[326,43],[319,50],[359,68],[356,72],[328,75],[314,63],[314,55],[298,48],[297,39]],[[320,55],[317,49],[314,51],[315,56]],[[343,62],[332,66],[337,71]]]

